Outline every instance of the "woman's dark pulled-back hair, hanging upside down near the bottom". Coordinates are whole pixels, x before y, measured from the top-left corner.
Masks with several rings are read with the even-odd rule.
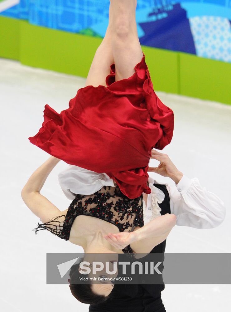
[[[80,262],[83,259],[80,259]],[[92,291],[91,284],[77,284],[75,281],[79,281],[79,277],[83,277],[81,273],[79,273],[79,263],[74,264],[70,269],[70,291],[72,295],[82,303],[86,304],[99,304],[108,299],[108,296],[97,295]],[[84,275],[87,277],[88,274]]]

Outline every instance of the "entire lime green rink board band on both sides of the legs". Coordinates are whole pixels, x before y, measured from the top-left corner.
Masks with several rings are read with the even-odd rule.
[[[0,16],[0,57],[87,77],[102,38]],[[231,104],[230,63],[142,46],[155,90]]]

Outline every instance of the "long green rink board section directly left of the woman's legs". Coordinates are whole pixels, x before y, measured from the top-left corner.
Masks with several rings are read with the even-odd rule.
[[[63,32],[21,22],[21,62],[61,73],[87,77],[101,38]]]

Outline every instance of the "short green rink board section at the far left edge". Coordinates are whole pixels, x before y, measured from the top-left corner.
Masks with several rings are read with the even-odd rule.
[[[0,57],[19,60],[20,20],[0,16]]]

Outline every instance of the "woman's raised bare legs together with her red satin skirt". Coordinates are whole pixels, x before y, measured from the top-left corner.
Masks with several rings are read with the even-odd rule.
[[[66,163],[106,173],[132,199],[151,193],[151,150],[171,142],[174,115],[153,90],[137,35],[137,1],[110,2],[85,87],[60,114],[45,105],[42,127],[29,139]]]

